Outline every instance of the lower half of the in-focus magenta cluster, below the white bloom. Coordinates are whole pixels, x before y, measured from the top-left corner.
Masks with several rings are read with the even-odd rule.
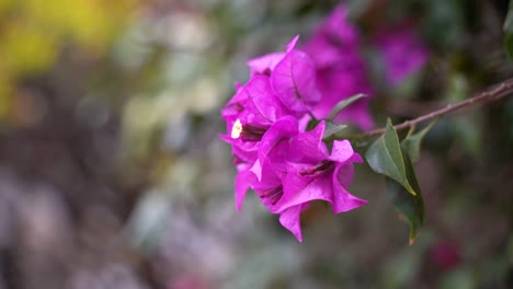
[[[288,122],[278,120],[269,130],[266,149],[262,146],[260,151],[267,157],[255,162],[256,170],[237,175],[236,205],[240,209],[247,190],[254,189],[262,204],[280,215],[282,226],[301,241],[300,212],[310,201],[328,201],[334,213],[366,204],[346,190],[354,174],[353,163],[362,159],[346,140],[335,140],[330,154],[322,142],[323,122],[314,130],[297,135],[287,127]]]

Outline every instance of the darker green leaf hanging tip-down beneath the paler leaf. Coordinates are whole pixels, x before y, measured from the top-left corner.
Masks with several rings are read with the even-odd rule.
[[[413,186],[413,189],[417,192],[417,195],[413,196],[404,188],[404,186],[390,177],[387,177],[386,186],[394,208],[410,224],[409,243],[411,245],[415,240],[418,230],[424,224],[424,200],[422,199],[422,194],[419,183],[417,182],[411,160],[406,151],[403,151],[403,154],[407,177],[409,183]]]

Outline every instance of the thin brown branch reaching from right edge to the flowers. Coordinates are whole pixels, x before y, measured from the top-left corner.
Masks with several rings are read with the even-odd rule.
[[[489,103],[489,102],[492,102],[492,101],[497,101],[497,100],[499,100],[500,97],[502,97],[504,95],[509,95],[509,96],[513,95],[513,78],[498,84],[493,89],[488,89],[487,91],[483,91],[483,92],[477,94],[474,97],[467,99],[467,100],[465,100],[463,102],[458,102],[458,103],[455,103],[455,104],[449,104],[449,105],[447,105],[447,106],[445,106],[445,107],[443,107],[443,108],[441,108],[438,111],[434,111],[434,112],[429,113],[426,115],[419,116],[419,117],[417,117],[414,119],[406,120],[404,123],[401,123],[399,125],[395,125],[394,128],[396,130],[402,130],[402,129],[406,129],[406,128],[410,128],[412,126],[417,126],[418,124],[420,124],[422,122],[430,120],[430,119],[433,119],[433,118],[436,118],[436,117],[453,113],[453,112],[458,111],[460,108],[464,108],[466,106],[470,106],[470,105],[474,105],[474,104],[480,104],[480,103],[485,104],[485,103]],[[379,129],[374,129],[374,130],[369,130],[369,131],[360,134],[360,135],[356,136],[356,138],[369,138],[369,137],[383,135],[384,132],[385,132],[385,128],[379,128]]]

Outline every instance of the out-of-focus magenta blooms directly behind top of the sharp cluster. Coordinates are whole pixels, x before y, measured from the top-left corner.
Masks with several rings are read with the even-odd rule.
[[[320,24],[304,49],[316,63],[316,81],[322,94],[321,101],[312,108],[317,118],[328,117],[340,101],[357,93],[372,94],[365,62],[360,55],[358,32],[347,21],[345,7],[339,5]],[[334,120],[356,124],[362,129],[372,128],[374,122],[368,102],[368,97],[357,101]]]

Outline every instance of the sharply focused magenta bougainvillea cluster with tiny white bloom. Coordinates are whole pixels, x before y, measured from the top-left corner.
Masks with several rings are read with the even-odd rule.
[[[366,201],[347,193],[353,163],[361,162],[347,140],[335,140],[331,153],[322,141],[326,124],[307,131],[305,119],[322,103],[311,57],[295,48],[248,62],[251,78],[223,109],[232,146],[236,205],[248,189],[280,215],[280,222],[299,241],[299,216],[311,200],[326,200],[339,213]]]

